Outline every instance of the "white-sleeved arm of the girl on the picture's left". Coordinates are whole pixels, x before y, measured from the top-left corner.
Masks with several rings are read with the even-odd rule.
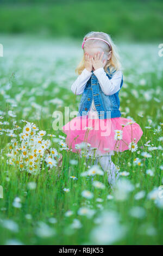
[[[79,95],[84,92],[87,81],[90,79],[92,72],[84,69],[82,73],[78,76],[77,80],[71,86],[71,90],[74,94]]]

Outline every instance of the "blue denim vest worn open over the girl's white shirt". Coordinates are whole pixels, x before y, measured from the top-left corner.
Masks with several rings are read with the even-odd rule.
[[[112,78],[114,72],[112,74],[110,73],[109,67],[108,67],[109,75],[106,73],[109,79]],[[118,92],[112,94],[112,95],[105,95],[101,89],[101,86],[98,82],[97,77],[95,74],[93,74],[90,77],[90,79],[87,81],[86,86],[84,88],[84,92],[82,94],[82,97],[80,99],[79,108],[78,108],[78,114],[77,116],[81,115],[87,115],[87,113],[90,110],[92,99],[95,102],[95,107],[98,112],[98,118],[99,119],[108,119],[108,118],[115,118],[115,117],[121,117],[121,112],[119,110],[120,107],[120,99],[118,96]],[[123,76],[121,80],[120,89],[123,84]]]

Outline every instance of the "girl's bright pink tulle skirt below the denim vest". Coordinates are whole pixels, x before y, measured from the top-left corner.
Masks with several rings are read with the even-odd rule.
[[[76,144],[87,142],[101,153],[129,149],[129,143],[137,144],[143,131],[139,124],[131,119],[117,117],[109,119],[91,119],[88,115],[73,118],[62,131],[67,135],[66,144],[72,152],[77,152]]]

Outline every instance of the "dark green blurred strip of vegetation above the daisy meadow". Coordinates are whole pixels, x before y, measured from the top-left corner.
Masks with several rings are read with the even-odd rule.
[[[103,31],[117,40],[161,42],[162,10],[160,0],[0,0],[0,33],[82,39]]]

